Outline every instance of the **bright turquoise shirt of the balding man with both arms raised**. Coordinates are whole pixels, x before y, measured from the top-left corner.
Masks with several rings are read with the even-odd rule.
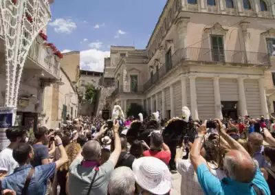
[[[204,194],[256,194],[252,187],[252,183],[259,187],[265,195],[270,195],[270,188],[268,187],[263,175],[259,168],[256,168],[256,174],[254,179],[250,183],[240,183],[234,181],[228,177],[225,177],[221,181],[217,177],[213,176],[208,170],[205,164],[199,165],[197,168],[197,179]]]

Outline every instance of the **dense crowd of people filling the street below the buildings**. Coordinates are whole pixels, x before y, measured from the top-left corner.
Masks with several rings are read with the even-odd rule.
[[[67,117],[61,129],[6,130],[2,194],[275,194],[275,121]],[[33,137],[32,137],[33,136]]]

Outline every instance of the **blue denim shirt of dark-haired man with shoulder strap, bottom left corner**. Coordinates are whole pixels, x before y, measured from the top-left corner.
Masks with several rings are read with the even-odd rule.
[[[25,181],[30,172],[32,165],[23,165],[14,170],[13,174],[6,176],[2,180],[3,190],[10,189],[21,195]],[[34,168],[34,174],[30,180],[28,187],[28,194],[44,195],[47,190],[47,181],[54,174],[56,170],[56,163],[49,163],[40,165]]]

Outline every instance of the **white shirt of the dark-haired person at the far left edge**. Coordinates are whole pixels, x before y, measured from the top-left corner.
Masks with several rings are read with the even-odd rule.
[[[5,148],[0,152],[0,170],[7,171],[8,175],[14,172],[19,165],[12,157],[12,149]]]

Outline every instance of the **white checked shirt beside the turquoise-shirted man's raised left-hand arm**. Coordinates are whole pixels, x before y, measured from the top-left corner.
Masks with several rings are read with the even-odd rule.
[[[210,165],[211,163],[209,163]],[[203,195],[203,190],[197,179],[197,174],[189,159],[177,160],[177,171],[181,174],[181,195]],[[210,172],[219,180],[225,176],[222,170],[210,169]]]

